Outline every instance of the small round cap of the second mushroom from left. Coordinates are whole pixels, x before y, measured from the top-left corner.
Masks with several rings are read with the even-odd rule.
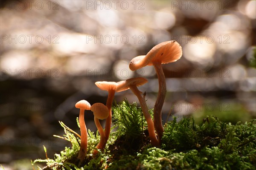
[[[93,111],[93,115],[97,118],[97,119],[107,119],[108,117],[108,107],[105,106],[102,103],[94,103],[91,108],[91,111]]]

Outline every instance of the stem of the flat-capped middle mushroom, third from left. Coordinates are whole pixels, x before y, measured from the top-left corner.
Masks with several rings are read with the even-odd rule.
[[[108,91],[108,99],[107,99],[107,102],[106,102],[106,106],[108,107],[109,115],[108,115],[108,118],[106,119],[106,124],[105,124],[105,142],[104,142],[103,147],[105,147],[105,145],[108,141],[108,138],[109,138],[109,134],[110,134],[111,123],[112,123],[111,107],[112,107],[112,102],[113,102],[115,93],[116,93],[115,90],[109,90]]]

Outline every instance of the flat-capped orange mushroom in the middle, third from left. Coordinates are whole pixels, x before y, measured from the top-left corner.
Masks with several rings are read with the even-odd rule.
[[[105,124],[105,142],[104,146],[106,145],[109,134],[110,134],[110,129],[111,129],[111,122],[112,122],[112,113],[111,113],[111,107],[112,107],[112,102],[114,99],[114,95],[116,93],[116,82],[96,82],[95,85],[100,88],[101,90],[108,91],[108,99],[106,102],[106,106],[108,107],[108,118],[106,119],[106,124]]]

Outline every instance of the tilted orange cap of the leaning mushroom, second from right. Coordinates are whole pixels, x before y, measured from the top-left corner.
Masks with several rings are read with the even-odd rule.
[[[148,80],[143,77],[131,78],[125,81],[120,81],[117,83],[116,92],[125,91],[129,89],[129,85],[140,86],[144,85],[146,82],[148,82]]]

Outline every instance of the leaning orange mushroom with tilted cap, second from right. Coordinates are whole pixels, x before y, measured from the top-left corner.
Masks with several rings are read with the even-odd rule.
[[[141,96],[141,92],[137,88],[137,86],[143,85],[146,82],[148,82],[148,80],[143,77],[131,78],[131,79],[127,79],[125,81],[120,81],[117,83],[118,85],[116,88],[116,92],[125,91],[130,88],[131,91],[137,96],[137,98],[139,99],[139,102],[140,102],[141,109],[143,111],[143,115],[145,116],[145,119],[148,124],[148,133],[149,133],[149,137],[151,139],[151,144],[154,147],[159,147],[160,144],[159,144],[159,141],[157,140],[157,136],[154,131],[154,124],[153,124],[152,118],[149,114],[147,104],[146,104],[145,100],[143,99],[143,97]]]

